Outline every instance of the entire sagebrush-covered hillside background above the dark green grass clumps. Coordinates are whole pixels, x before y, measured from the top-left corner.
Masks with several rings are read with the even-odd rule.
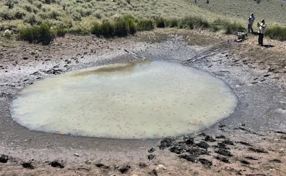
[[[209,0],[208,4],[206,0],[0,0],[0,31],[42,21],[82,30],[94,21],[126,14],[137,19],[199,15],[209,20],[228,18],[246,25],[251,12],[267,23],[286,23],[286,3],[281,0],[261,0],[259,4],[253,0]]]

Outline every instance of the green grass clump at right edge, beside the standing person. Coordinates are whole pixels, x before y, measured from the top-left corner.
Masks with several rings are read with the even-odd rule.
[[[272,25],[266,28],[265,36],[270,39],[286,41],[286,26]]]

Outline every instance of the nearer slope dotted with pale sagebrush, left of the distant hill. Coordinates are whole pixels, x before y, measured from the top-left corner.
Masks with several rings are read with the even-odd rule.
[[[84,27],[94,20],[125,14],[138,19],[220,16],[182,0],[0,0],[0,29],[39,25],[46,20],[55,26]]]

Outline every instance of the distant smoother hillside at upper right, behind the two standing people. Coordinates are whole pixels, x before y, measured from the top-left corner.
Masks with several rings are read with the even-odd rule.
[[[185,0],[207,11],[247,19],[253,12],[257,19],[268,23],[286,23],[286,2],[281,0]],[[258,1],[258,2],[257,2]]]

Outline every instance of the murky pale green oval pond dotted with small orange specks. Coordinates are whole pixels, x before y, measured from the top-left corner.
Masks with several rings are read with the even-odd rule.
[[[144,139],[198,132],[229,116],[237,97],[207,72],[176,62],[111,64],[24,88],[11,115],[31,130]]]

